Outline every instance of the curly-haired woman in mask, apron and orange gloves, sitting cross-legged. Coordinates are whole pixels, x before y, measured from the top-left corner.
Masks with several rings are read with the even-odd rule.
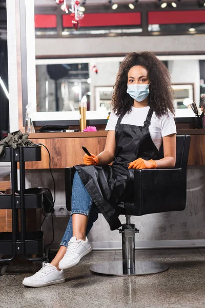
[[[106,146],[85,154],[74,166],[72,213],[51,263],[24,279],[27,286],[65,282],[64,269],[91,252],[87,234],[102,213],[111,230],[121,226],[118,206],[133,193],[134,169],[173,168],[176,126],[171,80],[166,66],[150,52],[130,53],[120,64],[114,86]],[[158,158],[163,141],[164,158]],[[112,166],[109,166],[113,162]]]

